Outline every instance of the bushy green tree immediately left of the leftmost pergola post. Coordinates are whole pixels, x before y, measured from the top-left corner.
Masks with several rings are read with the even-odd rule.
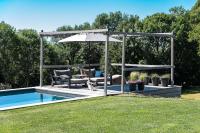
[[[37,85],[39,81],[39,48],[38,33],[32,29],[19,30],[17,32],[19,44],[16,60],[18,61],[16,76],[21,86]]]

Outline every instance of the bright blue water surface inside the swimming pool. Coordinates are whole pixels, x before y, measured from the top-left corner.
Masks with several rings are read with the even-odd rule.
[[[37,92],[35,89],[0,92],[0,108],[43,103],[73,98],[74,96],[55,96]]]

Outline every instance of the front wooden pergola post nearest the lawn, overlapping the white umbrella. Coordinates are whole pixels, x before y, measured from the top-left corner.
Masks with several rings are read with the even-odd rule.
[[[104,96],[107,96],[107,78],[108,78],[108,43],[109,43],[109,34],[106,35],[105,42],[105,74],[104,74]]]

